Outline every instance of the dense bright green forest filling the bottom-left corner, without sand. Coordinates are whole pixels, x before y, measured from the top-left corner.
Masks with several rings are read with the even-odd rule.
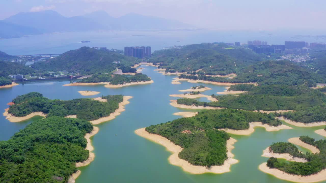
[[[82,119],[52,116],[33,121],[0,141],[0,182],[66,183],[77,171],[76,162],[89,156],[84,136],[92,130]]]

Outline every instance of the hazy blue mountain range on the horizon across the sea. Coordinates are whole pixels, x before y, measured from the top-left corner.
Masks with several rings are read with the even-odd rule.
[[[53,10],[21,12],[0,21],[0,38],[21,37],[54,32],[83,32],[97,30],[176,30],[194,26],[151,16],[130,13],[111,17],[105,11],[84,16],[64,17]]]

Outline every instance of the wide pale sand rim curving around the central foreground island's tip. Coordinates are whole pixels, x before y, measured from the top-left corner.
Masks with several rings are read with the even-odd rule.
[[[169,162],[173,165],[180,166],[185,172],[189,172],[191,174],[203,174],[203,173],[215,173],[215,174],[222,174],[226,172],[230,172],[230,166],[239,162],[236,159],[233,159],[234,155],[231,153],[231,150],[234,148],[233,144],[237,141],[233,138],[230,138],[227,141],[227,150],[228,150],[228,159],[225,160],[223,165],[220,166],[211,166],[208,169],[205,166],[195,166],[190,164],[189,162],[180,159],[178,154],[183,150],[180,146],[173,144],[170,140],[165,137],[156,134],[150,134],[145,131],[145,128],[141,128],[135,131],[135,133],[141,137],[144,137],[148,140],[156,142],[164,147],[167,148],[168,151],[172,152],[173,154],[169,157]]]

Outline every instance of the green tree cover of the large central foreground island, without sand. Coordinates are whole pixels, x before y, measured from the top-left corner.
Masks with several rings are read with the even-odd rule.
[[[225,165],[224,162],[228,159],[226,145],[230,136],[218,129],[245,130],[249,128],[249,123],[254,121],[271,126],[281,124],[273,114],[221,109],[203,110],[193,117],[151,125],[145,130],[180,146],[182,148],[178,154],[180,159],[186,160],[191,165],[209,169],[212,166]]]

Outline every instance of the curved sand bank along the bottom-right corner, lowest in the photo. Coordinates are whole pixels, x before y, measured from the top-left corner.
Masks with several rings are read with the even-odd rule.
[[[313,182],[320,182],[326,180],[326,169],[320,171],[317,174],[310,175],[310,176],[298,176],[298,175],[291,175],[285,173],[281,170],[276,168],[270,168],[267,166],[267,163],[262,163],[259,165],[258,169],[266,174],[273,175],[279,179],[288,180],[291,182],[299,182],[299,183],[313,183]]]

